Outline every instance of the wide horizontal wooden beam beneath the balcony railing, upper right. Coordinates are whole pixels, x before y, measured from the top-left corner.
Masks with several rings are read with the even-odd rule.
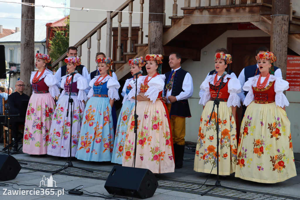
[[[260,6],[184,10],[184,24],[258,22],[259,11]]]

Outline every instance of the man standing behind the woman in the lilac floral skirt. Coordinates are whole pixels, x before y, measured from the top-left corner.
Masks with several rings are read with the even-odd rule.
[[[75,56],[77,57],[77,48],[76,47],[68,47],[67,48],[67,56]],[[78,65],[77,67],[77,71],[79,74],[81,74],[83,77],[85,77],[85,79],[88,80],[88,70],[85,66],[83,65]],[[60,85],[61,85],[61,77],[67,75],[67,65],[61,66],[61,68],[58,68],[58,70],[56,71],[56,73],[54,74],[55,77],[58,80],[57,86],[59,89],[61,89]],[[61,90],[62,91],[62,90]]]

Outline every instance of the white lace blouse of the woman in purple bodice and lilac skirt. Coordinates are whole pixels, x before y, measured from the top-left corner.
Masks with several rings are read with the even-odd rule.
[[[64,83],[66,83],[66,78],[67,78],[67,75],[61,77],[61,89],[63,89],[63,91],[61,92],[61,95],[59,98],[61,98],[64,93],[65,93],[65,90],[64,90]],[[77,99],[79,101],[86,101],[87,100],[87,96],[84,92],[84,90],[86,88],[88,88],[88,82],[86,81],[86,79],[81,75],[81,74],[75,74],[74,75],[74,78],[73,78],[73,83],[77,82],[77,89],[79,89],[78,91],[78,97]]]

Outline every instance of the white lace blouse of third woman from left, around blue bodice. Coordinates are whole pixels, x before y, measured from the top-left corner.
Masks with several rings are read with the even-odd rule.
[[[91,98],[93,95],[94,95],[94,90],[93,90],[93,86],[94,86],[94,83],[96,82],[96,80],[100,77],[101,75],[99,75],[99,76],[96,76],[95,78],[93,78],[91,81],[90,81],[90,83],[88,84],[90,87],[91,87],[91,89],[90,89],[90,91],[88,92],[88,98]],[[101,78],[100,78],[100,80],[101,80]],[[120,88],[120,83],[116,80],[116,79],[114,79],[113,77],[111,77],[111,76],[107,76],[107,77],[105,77],[102,81],[101,81],[101,83],[105,83],[107,81],[107,88],[108,88],[108,93],[107,93],[107,95],[108,95],[108,97],[111,99],[111,100],[113,100],[113,99],[115,99],[115,101],[116,100],[119,100],[120,99],[120,97],[119,97],[119,92],[118,92],[118,89]]]

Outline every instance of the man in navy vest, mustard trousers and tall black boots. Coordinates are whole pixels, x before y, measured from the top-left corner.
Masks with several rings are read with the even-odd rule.
[[[171,53],[169,65],[172,71],[165,74],[163,100],[167,102],[173,136],[175,168],[182,168],[184,155],[185,118],[191,117],[187,99],[193,95],[193,80],[181,68],[181,55]]]

